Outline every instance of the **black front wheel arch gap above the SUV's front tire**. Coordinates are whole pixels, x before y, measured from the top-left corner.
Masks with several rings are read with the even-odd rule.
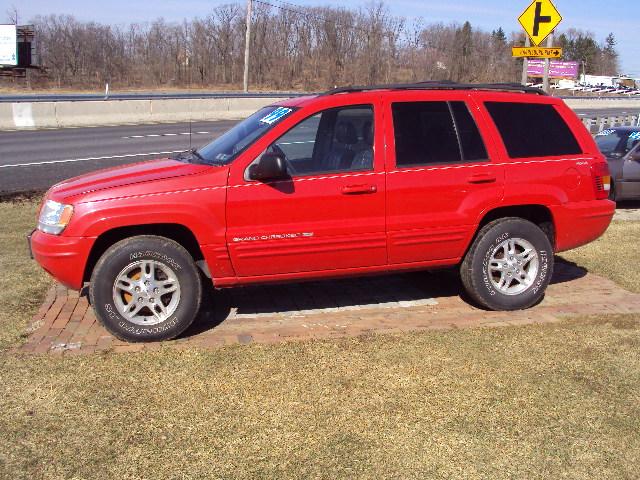
[[[93,269],[100,257],[111,245],[126,238],[138,235],[156,235],[173,240],[182,245],[193,257],[194,262],[204,260],[200,244],[194,233],[184,225],[178,223],[152,223],[144,225],[130,225],[115,227],[101,233],[93,243],[82,276],[83,282],[88,282]],[[205,272],[206,273],[206,272]]]

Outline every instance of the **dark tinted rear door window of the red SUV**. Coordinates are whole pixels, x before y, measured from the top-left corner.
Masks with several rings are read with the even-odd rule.
[[[464,102],[401,102],[391,110],[398,167],[487,159]]]

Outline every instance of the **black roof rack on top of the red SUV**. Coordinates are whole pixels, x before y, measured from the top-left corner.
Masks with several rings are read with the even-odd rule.
[[[497,90],[503,92],[522,92],[546,95],[546,93],[539,88],[525,87],[519,83],[456,83],[451,81],[426,81],[416,83],[395,83],[389,85],[338,87],[332,90],[327,90],[321,95],[368,92],[371,90]]]

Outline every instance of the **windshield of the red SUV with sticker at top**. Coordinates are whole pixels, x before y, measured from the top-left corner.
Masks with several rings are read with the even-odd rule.
[[[204,163],[216,165],[231,163],[245,148],[292,111],[293,108],[289,107],[265,107],[238,123],[213,142],[195,150],[194,153]]]

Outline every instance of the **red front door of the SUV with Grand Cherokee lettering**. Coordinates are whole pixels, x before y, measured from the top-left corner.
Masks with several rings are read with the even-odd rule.
[[[248,180],[248,161],[232,165],[227,243],[237,276],[386,263],[382,122],[374,104],[319,111],[272,142],[267,151],[284,154],[286,180]]]

